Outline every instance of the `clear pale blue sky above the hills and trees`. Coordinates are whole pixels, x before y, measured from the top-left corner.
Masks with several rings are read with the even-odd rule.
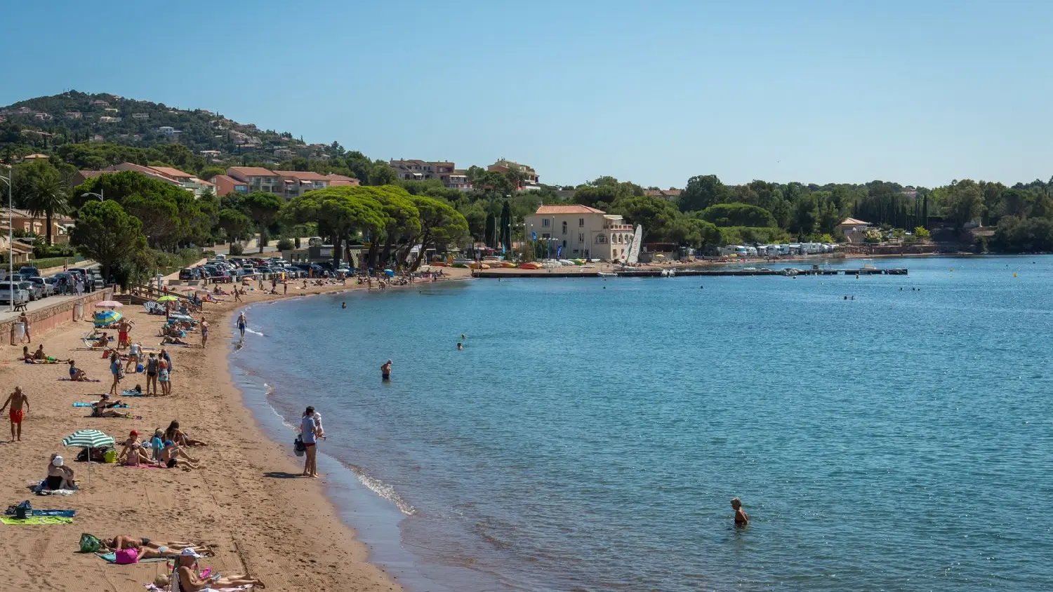
[[[1053,2],[112,1],[3,11],[0,104],[114,93],[371,158],[933,186],[1053,175]]]

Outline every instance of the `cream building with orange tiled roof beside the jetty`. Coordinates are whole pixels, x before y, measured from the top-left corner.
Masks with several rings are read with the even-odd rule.
[[[542,205],[523,220],[525,239],[553,241],[563,259],[624,261],[633,226],[620,216],[584,205]]]

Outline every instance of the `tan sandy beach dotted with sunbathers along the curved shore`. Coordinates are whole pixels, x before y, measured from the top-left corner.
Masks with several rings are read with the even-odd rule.
[[[454,279],[468,270],[448,269]],[[314,287],[290,283],[287,297],[255,291],[243,304],[306,293],[356,288]],[[229,286],[224,286],[229,289]],[[397,288],[394,288],[397,289]],[[279,291],[281,291],[279,287]],[[205,304],[210,322],[208,346],[191,333],[194,347],[174,347],[172,396],[125,399],[136,419],[90,417],[90,409],[75,402],[93,402],[110,387],[108,361],[101,351],[87,351],[80,341],[91,330],[85,322],[66,323],[43,335],[33,335],[31,350],[44,344],[48,355],[73,358],[77,366],[101,383],[58,381],[64,365],[27,365],[16,359],[21,347],[0,348],[0,382],[6,397],[15,386],[28,396],[22,441],[8,443],[9,424],[3,422],[0,491],[3,507],[28,499],[35,509],[76,510],[74,524],[0,525],[0,553],[9,560],[0,566],[2,590],[92,590],[139,592],[143,584],[165,572],[164,563],[111,565],[94,554],[79,553],[81,533],[100,538],[117,534],[153,540],[205,542],[216,551],[201,560],[224,576],[249,574],[270,590],[394,591],[396,578],[369,563],[369,550],[339,519],[324,495],[324,475],[299,477],[302,461],[292,446],[270,441],[256,425],[227,370],[232,342],[231,315],[243,304],[225,297]],[[163,318],[145,314],[141,306],[121,310],[136,325],[133,341],[157,347]],[[197,317],[197,315],[196,315]],[[145,375],[130,373],[122,388],[145,388]],[[173,420],[205,447],[188,452],[204,467],[198,470],[144,469],[93,463],[88,482],[85,463],[73,462],[79,449],[63,449],[60,441],[78,429],[94,428],[118,443],[137,430],[148,437]],[[290,433],[290,438],[292,432]],[[59,453],[76,471],[80,491],[68,496],[40,496],[29,491],[46,474],[48,457]]]

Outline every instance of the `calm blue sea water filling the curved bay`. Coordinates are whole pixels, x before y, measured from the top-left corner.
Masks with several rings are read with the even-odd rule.
[[[878,265],[256,306],[235,363],[457,590],[1053,589],[1053,258]]]

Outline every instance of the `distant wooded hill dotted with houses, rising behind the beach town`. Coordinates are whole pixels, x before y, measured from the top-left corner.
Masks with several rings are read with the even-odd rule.
[[[180,144],[213,163],[327,160],[342,154],[335,142],[306,145],[290,132],[259,129],[205,109],[176,109],[116,95],[69,90],[0,107],[0,147],[47,152],[69,143],[136,148]]]

